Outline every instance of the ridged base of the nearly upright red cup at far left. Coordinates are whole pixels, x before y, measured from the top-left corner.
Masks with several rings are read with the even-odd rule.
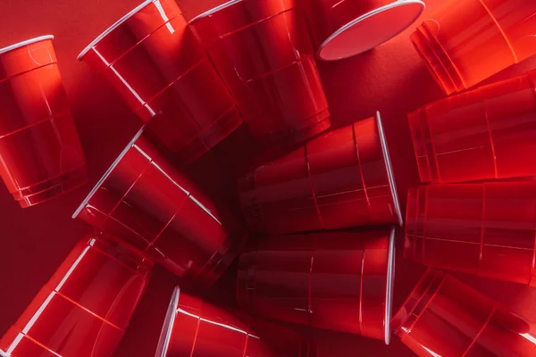
[[[35,206],[39,203],[44,203],[48,200],[53,199],[59,195],[66,194],[67,192],[73,191],[79,187],[84,186],[88,183],[88,177],[86,175],[86,167],[82,167],[77,170],[72,170],[61,176],[61,182],[55,183],[58,179],[51,179],[48,181],[51,185],[43,191],[40,191],[35,194],[25,195],[20,198],[17,195],[15,200],[21,205],[22,208],[28,208]]]

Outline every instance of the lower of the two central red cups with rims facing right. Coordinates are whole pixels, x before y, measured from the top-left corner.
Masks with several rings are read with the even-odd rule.
[[[240,255],[239,305],[389,345],[394,242],[394,228],[272,237]]]

